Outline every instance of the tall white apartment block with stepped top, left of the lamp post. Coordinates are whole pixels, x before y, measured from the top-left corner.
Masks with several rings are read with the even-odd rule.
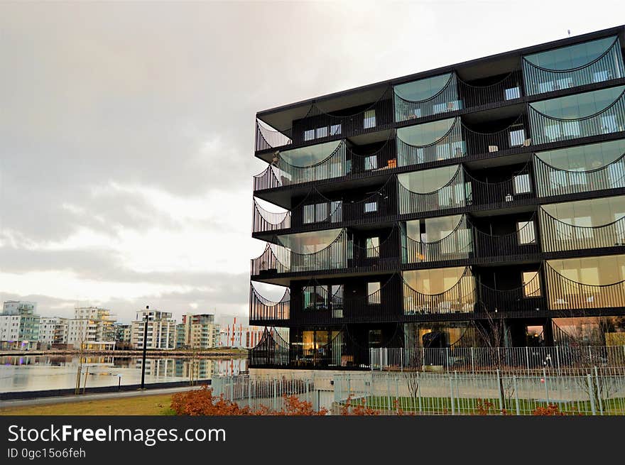
[[[76,307],[67,320],[67,346],[74,349],[112,350],[115,348],[115,320],[111,311],[99,307]]]

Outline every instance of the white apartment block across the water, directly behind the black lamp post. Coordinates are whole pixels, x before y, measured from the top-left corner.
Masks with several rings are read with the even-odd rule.
[[[143,349],[145,319],[148,319],[147,349],[175,349],[176,322],[170,312],[160,310],[139,310],[131,324],[131,344],[133,349]]]

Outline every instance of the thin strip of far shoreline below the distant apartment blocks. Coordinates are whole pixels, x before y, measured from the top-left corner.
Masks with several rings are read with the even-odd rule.
[[[160,356],[167,356],[172,358],[187,358],[187,359],[232,359],[232,358],[247,358],[248,349],[205,349],[202,351],[192,350],[158,350],[151,349],[146,351],[146,357],[148,359]],[[0,357],[13,357],[13,356],[80,356],[80,350],[75,349],[50,349],[50,350],[33,350],[33,351],[0,351]],[[83,357],[88,356],[143,356],[142,350],[85,350],[82,351]]]

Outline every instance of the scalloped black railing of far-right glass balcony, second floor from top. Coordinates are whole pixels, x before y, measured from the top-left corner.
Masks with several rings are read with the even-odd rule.
[[[625,131],[625,89],[612,104],[583,118],[556,118],[541,113],[532,104],[529,104],[528,108],[535,144]]]

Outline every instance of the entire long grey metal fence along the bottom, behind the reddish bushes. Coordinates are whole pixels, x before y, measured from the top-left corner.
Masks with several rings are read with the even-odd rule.
[[[214,395],[240,407],[280,411],[287,395],[335,415],[364,407],[379,415],[625,415],[625,368],[547,368],[431,373],[293,371],[221,376]]]

